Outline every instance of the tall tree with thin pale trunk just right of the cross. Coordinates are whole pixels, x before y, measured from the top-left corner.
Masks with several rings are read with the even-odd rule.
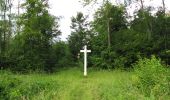
[[[127,29],[124,8],[107,2],[97,10],[92,24],[93,31],[96,33],[92,38],[92,63],[103,68],[113,68],[115,33]],[[108,32],[110,33],[110,47],[108,47]]]

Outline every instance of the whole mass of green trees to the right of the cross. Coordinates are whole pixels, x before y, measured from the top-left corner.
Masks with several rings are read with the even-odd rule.
[[[109,21],[108,21],[109,18]],[[91,65],[101,68],[129,68],[139,57],[156,55],[169,64],[169,16],[141,9],[127,22],[123,7],[104,3],[94,15]],[[108,25],[109,23],[109,25]],[[108,29],[111,46],[108,47]]]

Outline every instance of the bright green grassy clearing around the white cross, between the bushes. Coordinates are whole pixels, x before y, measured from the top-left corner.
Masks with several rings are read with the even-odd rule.
[[[17,89],[28,85],[24,91],[31,92],[34,88],[30,86],[35,87],[35,83],[38,86],[39,92],[26,92],[24,95],[30,94],[29,98],[22,95],[22,100],[136,100],[139,96],[134,96],[129,87],[131,76],[132,72],[89,69],[88,76],[84,77],[80,68],[71,68],[50,75],[29,74],[13,77],[24,82]],[[14,92],[13,95],[17,93]]]

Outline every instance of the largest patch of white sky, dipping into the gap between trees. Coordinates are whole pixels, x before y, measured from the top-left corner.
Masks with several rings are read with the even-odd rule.
[[[89,20],[91,20],[92,14],[95,11],[94,9],[97,8],[95,5],[93,7],[84,7],[82,2],[79,1],[80,0],[49,0],[50,13],[62,17],[59,22],[60,30],[62,31],[60,38],[64,41],[66,41],[68,35],[71,33],[71,17],[76,16],[77,12],[83,12],[84,15],[89,15]]]

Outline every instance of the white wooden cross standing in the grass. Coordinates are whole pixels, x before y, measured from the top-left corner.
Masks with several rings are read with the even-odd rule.
[[[87,50],[87,46],[84,46],[84,50],[80,50],[80,52],[84,52],[84,76],[87,76],[87,53],[91,52],[91,50]]]

